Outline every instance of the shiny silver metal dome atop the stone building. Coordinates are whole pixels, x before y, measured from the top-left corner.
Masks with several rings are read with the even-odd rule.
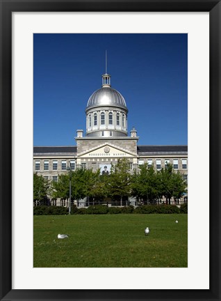
[[[102,88],[92,93],[86,110],[101,106],[122,107],[128,111],[126,102],[120,92],[108,85],[102,86]]]

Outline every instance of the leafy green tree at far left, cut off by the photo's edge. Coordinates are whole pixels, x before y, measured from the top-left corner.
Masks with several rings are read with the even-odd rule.
[[[47,195],[49,194],[49,180],[43,176],[38,176],[37,173],[33,173],[33,200],[44,203],[47,201]]]

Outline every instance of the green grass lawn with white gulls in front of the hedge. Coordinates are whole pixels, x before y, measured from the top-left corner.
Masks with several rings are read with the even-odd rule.
[[[34,216],[33,266],[187,267],[187,219],[184,214]],[[147,226],[150,233],[145,236]],[[58,233],[69,238],[58,239]]]

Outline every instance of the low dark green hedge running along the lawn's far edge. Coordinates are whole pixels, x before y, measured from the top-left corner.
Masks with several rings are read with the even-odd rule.
[[[67,215],[68,208],[63,206],[35,206],[34,215]],[[108,207],[103,205],[90,206],[88,208],[77,208],[75,205],[71,208],[72,215],[101,215],[101,214],[172,214],[188,213],[188,204],[183,203],[180,208],[175,205],[143,205],[134,208],[133,206]]]

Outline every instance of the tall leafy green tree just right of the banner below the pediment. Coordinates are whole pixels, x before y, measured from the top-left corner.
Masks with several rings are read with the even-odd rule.
[[[131,173],[129,160],[126,158],[119,159],[117,164],[112,164],[111,174],[108,176],[108,194],[112,197],[120,196],[120,206],[122,206],[123,197],[128,197],[130,193]]]

